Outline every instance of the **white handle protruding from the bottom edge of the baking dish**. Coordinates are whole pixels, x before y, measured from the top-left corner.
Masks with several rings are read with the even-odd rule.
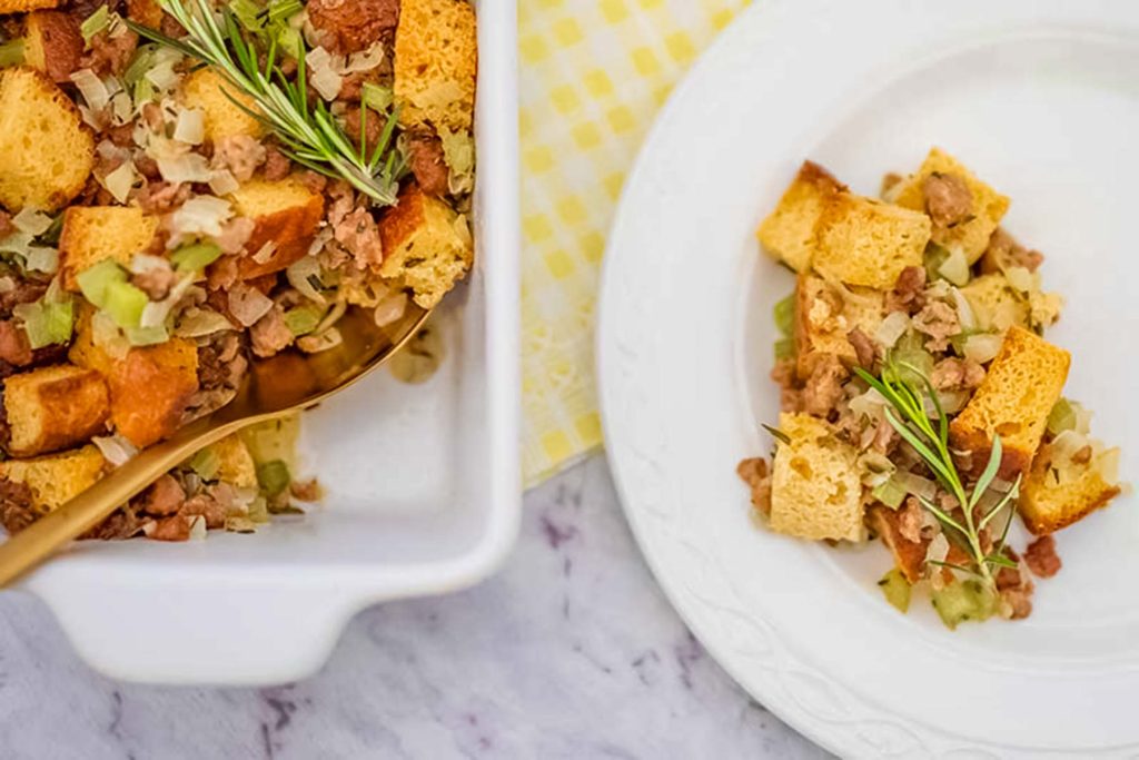
[[[191,581],[159,590],[128,580],[112,590],[106,577],[84,589],[74,573],[66,574],[67,587],[51,575],[41,571],[34,591],[83,660],[112,678],[151,684],[268,686],[305,678],[362,606],[358,596],[327,586]]]

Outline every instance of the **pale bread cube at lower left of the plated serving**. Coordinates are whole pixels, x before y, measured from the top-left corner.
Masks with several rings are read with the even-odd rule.
[[[771,530],[813,540],[861,541],[862,483],[858,452],[826,422],[782,412],[779,430],[790,440],[776,447],[771,480]]]

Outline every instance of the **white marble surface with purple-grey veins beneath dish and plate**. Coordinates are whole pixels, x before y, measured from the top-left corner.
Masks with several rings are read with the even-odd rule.
[[[223,757],[823,753],[691,638],[596,458],[527,496],[518,547],[495,578],[362,613],[325,669],[298,684],[116,684],[75,656],[36,599],[0,595],[0,758]]]

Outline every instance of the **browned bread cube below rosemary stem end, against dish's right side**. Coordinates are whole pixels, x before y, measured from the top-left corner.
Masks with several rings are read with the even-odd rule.
[[[466,276],[475,256],[466,216],[416,185],[384,214],[379,237],[384,244],[379,275],[410,287],[412,300],[424,309],[439,303]]]

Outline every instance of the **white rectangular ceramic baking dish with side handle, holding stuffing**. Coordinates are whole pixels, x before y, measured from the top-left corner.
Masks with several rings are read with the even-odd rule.
[[[270,684],[313,672],[376,602],[489,574],[518,523],[516,10],[483,0],[477,263],[448,299],[448,357],[427,384],[385,371],[304,417],[323,508],[254,536],[83,542],[24,588],[117,678]]]

